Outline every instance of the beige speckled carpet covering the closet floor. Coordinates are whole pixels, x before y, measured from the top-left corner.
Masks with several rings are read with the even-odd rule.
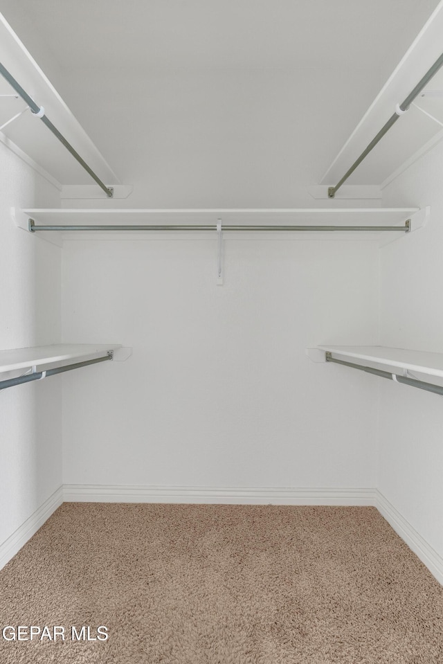
[[[0,593],[1,664],[443,663],[443,588],[375,508],[64,503]]]

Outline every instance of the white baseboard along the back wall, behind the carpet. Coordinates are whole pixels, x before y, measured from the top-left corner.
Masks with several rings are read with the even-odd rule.
[[[240,505],[374,505],[373,489],[275,489],[65,484],[64,501],[86,503],[228,503]]]

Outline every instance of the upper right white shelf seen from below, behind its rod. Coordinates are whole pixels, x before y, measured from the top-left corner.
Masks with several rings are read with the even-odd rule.
[[[419,91],[417,98],[413,96],[419,82],[442,55],[442,31],[443,3],[440,2],[327,169],[320,181],[325,192],[328,186],[336,186],[394,114],[401,118],[359,163],[347,180],[348,186],[378,185],[383,190],[442,141],[443,103],[439,91],[443,87],[443,68]],[[403,106],[406,110],[402,110],[400,105],[406,99],[410,101]]]

